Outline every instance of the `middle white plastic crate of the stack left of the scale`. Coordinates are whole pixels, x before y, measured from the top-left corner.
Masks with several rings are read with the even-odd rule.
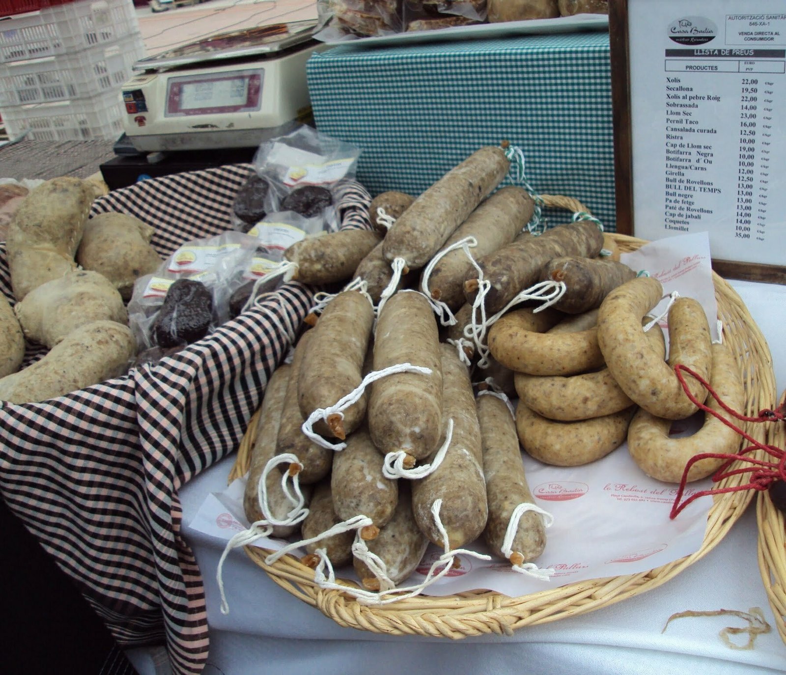
[[[144,56],[145,43],[137,34],[112,46],[0,64],[0,109],[119,90],[133,74],[131,66]]]

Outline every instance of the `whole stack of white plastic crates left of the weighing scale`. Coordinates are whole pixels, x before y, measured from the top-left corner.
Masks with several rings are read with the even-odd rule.
[[[0,0],[0,17],[8,4]],[[13,5],[16,13],[0,21],[0,115],[9,137],[118,138],[125,114],[121,86],[145,56],[133,2]]]

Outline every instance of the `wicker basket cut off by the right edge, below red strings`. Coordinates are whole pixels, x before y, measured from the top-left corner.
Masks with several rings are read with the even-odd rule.
[[[783,424],[771,427],[769,445],[786,447],[786,428]],[[775,614],[775,624],[780,639],[786,643],[786,522],[784,522],[784,514],[773,506],[766,492],[758,494],[756,522],[758,523],[758,569],[762,572],[764,589],[769,599],[769,606],[773,608]]]

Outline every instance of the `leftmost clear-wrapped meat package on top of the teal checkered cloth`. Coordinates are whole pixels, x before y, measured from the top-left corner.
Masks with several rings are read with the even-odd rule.
[[[318,0],[317,13],[327,25],[316,37],[325,42],[402,31],[402,0]]]

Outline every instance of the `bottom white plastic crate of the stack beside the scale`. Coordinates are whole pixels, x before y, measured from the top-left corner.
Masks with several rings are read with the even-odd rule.
[[[126,114],[119,90],[74,101],[3,108],[3,122],[12,139],[33,141],[115,141],[123,133]]]

